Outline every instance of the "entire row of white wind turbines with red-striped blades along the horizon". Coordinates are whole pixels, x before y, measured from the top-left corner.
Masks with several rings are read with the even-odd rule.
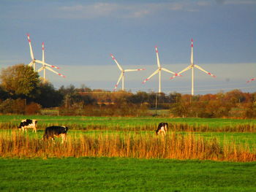
[[[55,69],[59,69],[58,66],[53,66],[50,64],[45,63],[45,44],[44,42],[42,42],[42,61],[37,60],[34,58],[34,53],[33,53],[33,49],[31,46],[31,39],[30,39],[30,35],[27,34],[28,37],[28,41],[29,41],[29,49],[30,49],[30,55],[31,55],[31,62],[29,63],[29,66],[33,66],[33,69],[35,72],[42,72],[43,71],[43,82],[46,82],[46,69],[48,69],[50,72],[53,72],[55,74],[58,74],[61,77],[66,77],[63,74],[60,74],[59,72],[56,72],[55,70],[53,70],[52,68]],[[211,75],[211,77],[216,77],[214,74],[211,74],[210,72],[207,72],[205,69],[203,69],[202,67],[194,64],[194,55],[193,55],[193,39],[191,39],[191,58],[190,58],[190,65],[187,66],[185,69],[181,70],[181,72],[172,72],[168,69],[165,69],[161,66],[160,61],[159,61],[159,54],[158,54],[158,49],[157,47],[155,47],[156,53],[157,53],[157,70],[155,72],[153,72],[148,78],[146,78],[146,80],[143,81],[143,83],[146,83],[148,80],[151,79],[151,77],[153,77],[155,74],[159,74],[159,89],[158,89],[158,93],[161,93],[161,73],[162,71],[168,72],[170,74],[173,74],[172,77],[170,77],[170,80],[174,79],[177,76],[181,76],[182,73],[186,72],[187,70],[191,69],[192,70],[192,85],[191,85],[191,95],[194,95],[194,68],[199,69],[202,72],[205,72],[206,74]],[[118,78],[118,81],[116,82],[114,91],[116,91],[116,88],[118,87],[119,82],[122,80],[122,91],[124,91],[124,73],[125,72],[138,72],[138,71],[142,71],[145,69],[123,69],[121,67],[120,64],[118,64],[118,61],[116,61],[116,58],[113,56],[113,54],[110,54],[111,58],[113,58],[113,61],[115,61],[116,65],[118,66],[118,69],[120,69],[121,74]],[[39,69],[36,69],[36,63],[37,64],[42,64],[42,66]],[[255,78],[252,78],[251,80],[248,80],[247,82],[251,82],[253,80],[256,80]]]

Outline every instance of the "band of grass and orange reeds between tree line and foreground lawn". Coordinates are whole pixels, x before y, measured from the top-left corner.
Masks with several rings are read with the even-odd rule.
[[[23,118],[37,118],[38,134],[17,130]],[[222,126],[216,125],[217,119],[209,120],[213,125],[206,120],[7,115],[1,117],[0,154],[12,158],[105,156],[255,161],[253,120],[229,120],[228,125],[226,120],[219,120]],[[162,121],[170,124],[169,132],[166,137],[157,137],[154,130]],[[41,141],[42,130],[53,125],[69,127],[64,145]]]

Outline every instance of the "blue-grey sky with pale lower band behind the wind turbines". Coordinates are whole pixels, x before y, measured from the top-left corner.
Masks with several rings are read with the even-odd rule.
[[[246,83],[256,77],[255,20],[255,0],[1,0],[0,70],[31,62],[30,34],[34,57],[42,59],[45,42],[45,62],[66,76],[46,72],[55,88],[113,91],[120,75],[113,54],[124,69],[146,69],[125,74],[127,91],[158,91],[157,75],[142,83],[157,69],[154,47],[162,67],[180,72],[193,38],[194,63],[217,76],[195,69],[195,94],[256,92],[256,81]],[[162,92],[191,93],[191,71],[171,76],[162,72]]]

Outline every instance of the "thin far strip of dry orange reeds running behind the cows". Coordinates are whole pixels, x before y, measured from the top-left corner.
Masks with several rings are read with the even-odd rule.
[[[45,130],[48,126],[62,126],[58,123],[42,123],[37,127]],[[151,123],[150,125],[142,124],[140,126],[127,125],[127,126],[108,126],[104,124],[89,124],[82,125],[78,123],[67,123],[69,130],[116,130],[116,131],[153,131],[157,128],[157,124]],[[18,128],[18,123],[0,123],[0,129],[15,129]],[[169,123],[169,129],[172,131],[189,131],[189,132],[256,132],[256,125],[252,123],[237,124],[230,126],[210,127],[208,125],[189,125],[187,123]]]

